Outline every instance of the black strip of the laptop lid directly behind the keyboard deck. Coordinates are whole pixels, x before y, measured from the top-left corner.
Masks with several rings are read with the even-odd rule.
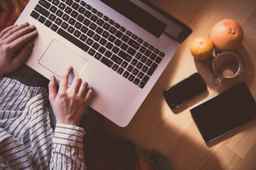
[[[129,20],[137,23],[149,33],[155,35],[157,38],[161,36],[166,28],[166,23],[160,21],[158,18],[152,16],[150,13],[144,11],[142,8],[133,4],[129,0],[100,0],[110,6],[115,11],[121,13]]]

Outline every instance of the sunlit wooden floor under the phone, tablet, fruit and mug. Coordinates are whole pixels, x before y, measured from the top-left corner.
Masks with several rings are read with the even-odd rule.
[[[150,0],[192,28],[193,33],[178,51],[149,96],[126,128],[109,120],[105,127],[113,135],[131,140],[143,149],[156,149],[165,154],[174,169],[256,169],[256,120],[243,125],[209,147],[203,142],[189,108],[245,81],[256,100],[256,1],[255,0]],[[231,18],[242,26],[245,37],[238,52],[244,57],[242,76],[212,85],[210,60],[193,60],[189,51],[193,38],[209,37],[211,28],[221,19]],[[178,81],[199,72],[208,86],[208,93],[172,111],[162,91]]]

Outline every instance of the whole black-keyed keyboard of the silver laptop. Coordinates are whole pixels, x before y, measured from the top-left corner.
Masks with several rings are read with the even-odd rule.
[[[31,16],[142,89],[165,56],[85,1],[40,0]]]

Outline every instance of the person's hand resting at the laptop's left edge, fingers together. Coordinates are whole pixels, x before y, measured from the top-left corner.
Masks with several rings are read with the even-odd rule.
[[[30,55],[33,38],[37,35],[35,26],[23,23],[9,26],[0,33],[0,77],[14,72]]]

